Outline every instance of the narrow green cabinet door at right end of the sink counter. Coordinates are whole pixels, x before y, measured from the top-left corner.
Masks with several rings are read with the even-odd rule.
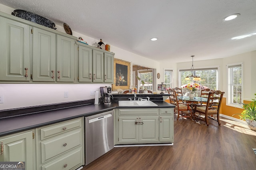
[[[173,142],[173,116],[160,116],[160,142]]]

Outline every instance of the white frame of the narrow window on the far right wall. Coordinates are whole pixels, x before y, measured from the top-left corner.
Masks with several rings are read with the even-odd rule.
[[[233,98],[232,98],[232,84],[231,84],[231,73],[230,73],[230,67],[236,66],[236,65],[241,65],[241,104],[238,103],[233,103]],[[242,102],[244,102],[244,65],[243,63],[234,63],[234,64],[227,64],[226,65],[226,73],[227,73],[227,99],[226,99],[226,105],[231,106],[231,107],[240,107],[242,108]]]

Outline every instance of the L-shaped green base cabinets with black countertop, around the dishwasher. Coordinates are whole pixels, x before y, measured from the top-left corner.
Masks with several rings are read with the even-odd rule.
[[[154,99],[153,95],[149,96]],[[159,99],[158,95],[154,96]],[[3,155],[0,155],[0,161],[12,161],[15,155],[20,155],[28,169],[52,169],[63,164],[76,169],[85,164],[84,117],[107,111],[114,113],[116,146],[172,144],[174,106],[164,102],[163,98],[153,102],[157,106],[131,108],[119,107],[118,101],[112,101],[110,105],[94,105],[94,99],[90,99],[2,110],[0,142]],[[127,133],[127,128],[132,128],[128,129],[131,133]]]

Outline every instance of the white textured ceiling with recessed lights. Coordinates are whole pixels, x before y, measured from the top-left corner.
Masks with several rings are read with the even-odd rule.
[[[256,50],[256,0],[0,0],[154,60],[215,59]],[[235,20],[223,22],[230,14]],[[149,39],[157,37],[158,41]]]

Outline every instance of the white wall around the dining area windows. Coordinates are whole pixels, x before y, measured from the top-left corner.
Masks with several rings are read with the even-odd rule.
[[[161,63],[160,70],[168,67],[169,63],[171,63],[171,61]],[[234,63],[243,63],[244,65],[244,100],[254,99],[254,93],[256,93],[256,51],[242,53],[221,59],[194,61],[193,64],[194,69],[218,67],[218,89],[227,92],[226,65]],[[172,65],[174,65],[174,63],[172,63]],[[174,76],[179,77],[178,72],[180,69],[190,70],[191,66],[192,59],[190,62],[176,63],[176,73]],[[173,67],[175,67],[175,65]],[[176,86],[174,87],[178,87],[178,78],[175,80],[176,82],[174,82],[174,84],[176,83]],[[226,95],[227,93],[224,94],[224,97],[226,97]]]

